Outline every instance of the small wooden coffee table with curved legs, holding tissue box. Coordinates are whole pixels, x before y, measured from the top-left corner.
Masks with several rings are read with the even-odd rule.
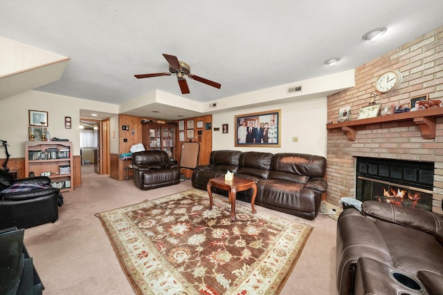
[[[224,177],[211,178],[206,185],[209,195],[209,209],[213,209],[213,193],[211,187],[217,187],[228,191],[228,202],[230,202],[230,220],[235,221],[235,196],[237,191],[246,191],[246,189],[253,189],[251,200],[251,209],[255,213],[254,202],[257,196],[257,184],[253,180],[246,180],[244,178],[233,178],[233,180],[224,180]]]

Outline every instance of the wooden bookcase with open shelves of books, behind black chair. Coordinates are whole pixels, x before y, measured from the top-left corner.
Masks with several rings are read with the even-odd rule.
[[[73,191],[72,142],[25,142],[25,177],[47,175],[51,185]]]

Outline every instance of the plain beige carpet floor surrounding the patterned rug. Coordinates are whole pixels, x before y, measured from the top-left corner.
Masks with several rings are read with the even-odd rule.
[[[142,191],[132,181],[113,180],[93,173],[93,165],[82,166],[82,187],[63,194],[66,203],[59,209],[59,220],[25,231],[26,247],[46,287],[44,295],[135,294],[94,214],[188,189],[192,189],[190,180]],[[314,227],[280,295],[337,294],[336,221],[326,215],[305,220],[259,206],[255,209]]]

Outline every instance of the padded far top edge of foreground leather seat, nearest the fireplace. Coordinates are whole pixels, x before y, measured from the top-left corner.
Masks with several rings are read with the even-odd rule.
[[[366,201],[362,204],[362,212],[365,216],[411,227],[432,236],[435,236],[435,233],[443,227],[442,215],[424,209],[399,207],[386,202]]]

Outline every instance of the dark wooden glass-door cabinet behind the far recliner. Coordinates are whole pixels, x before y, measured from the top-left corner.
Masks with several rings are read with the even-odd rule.
[[[168,124],[143,124],[142,142],[147,151],[165,151],[169,159],[176,158],[175,126]]]

